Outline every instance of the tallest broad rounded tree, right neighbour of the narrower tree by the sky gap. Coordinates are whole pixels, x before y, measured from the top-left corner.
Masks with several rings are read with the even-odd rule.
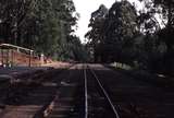
[[[136,24],[136,10],[128,1],[115,2],[109,10],[104,43],[109,49],[105,52],[111,61],[126,61],[126,58],[132,57],[129,51],[137,33]]]

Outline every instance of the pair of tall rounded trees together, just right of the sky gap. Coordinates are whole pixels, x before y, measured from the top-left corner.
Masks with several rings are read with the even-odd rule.
[[[92,13],[91,31],[86,37],[92,45],[95,61],[119,61],[132,51],[133,37],[137,33],[136,10],[127,1],[115,2],[110,10],[102,8]]]

